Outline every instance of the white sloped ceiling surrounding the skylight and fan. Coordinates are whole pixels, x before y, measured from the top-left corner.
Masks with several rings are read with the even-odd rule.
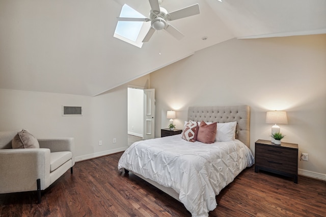
[[[326,33],[324,0],[164,0],[161,6],[171,12],[197,3],[199,15],[171,21],[182,40],[159,31],[138,48],[113,37],[116,17],[124,4],[148,16],[148,0],[2,0],[0,88],[96,96],[232,38]]]

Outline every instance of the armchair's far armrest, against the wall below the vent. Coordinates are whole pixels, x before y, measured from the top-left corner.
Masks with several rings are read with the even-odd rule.
[[[74,138],[61,139],[38,139],[40,148],[48,148],[51,152],[71,151],[72,166],[75,165],[75,143]]]

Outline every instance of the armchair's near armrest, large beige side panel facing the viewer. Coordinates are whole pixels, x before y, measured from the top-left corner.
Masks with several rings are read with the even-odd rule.
[[[47,148],[0,149],[0,193],[36,191],[50,185],[50,150]]]

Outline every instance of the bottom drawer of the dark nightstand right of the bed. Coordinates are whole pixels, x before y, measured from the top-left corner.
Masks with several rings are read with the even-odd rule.
[[[277,158],[264,158],[257,156],[255,158],[255,163],[260,167],[266,167],[273,170],[278,170],[286,173],[297,173],[297,163],[292,161],[284,161]]]

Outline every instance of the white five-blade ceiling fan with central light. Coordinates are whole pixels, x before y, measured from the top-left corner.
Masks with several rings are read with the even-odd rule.
[[[148,22],[151,21],[151,28],[148,30],[143,42],[148,42],[152,35],[155,33],[155,30],[165,29],[170,33],[174,38],[181,40],[184,35],[179,32],[178,29],[173,27],[167,21],[177,20],[184,17],[193,16],[199,14],[199,5],[195,4],[177,11],[168,13],[165,8],[159,7],[159,3],[162,0],[149,0],[151,10],[149,13],[149,18],[135,18],[135,17],[117,17],[118,21],[138,21],[138,22]]]

